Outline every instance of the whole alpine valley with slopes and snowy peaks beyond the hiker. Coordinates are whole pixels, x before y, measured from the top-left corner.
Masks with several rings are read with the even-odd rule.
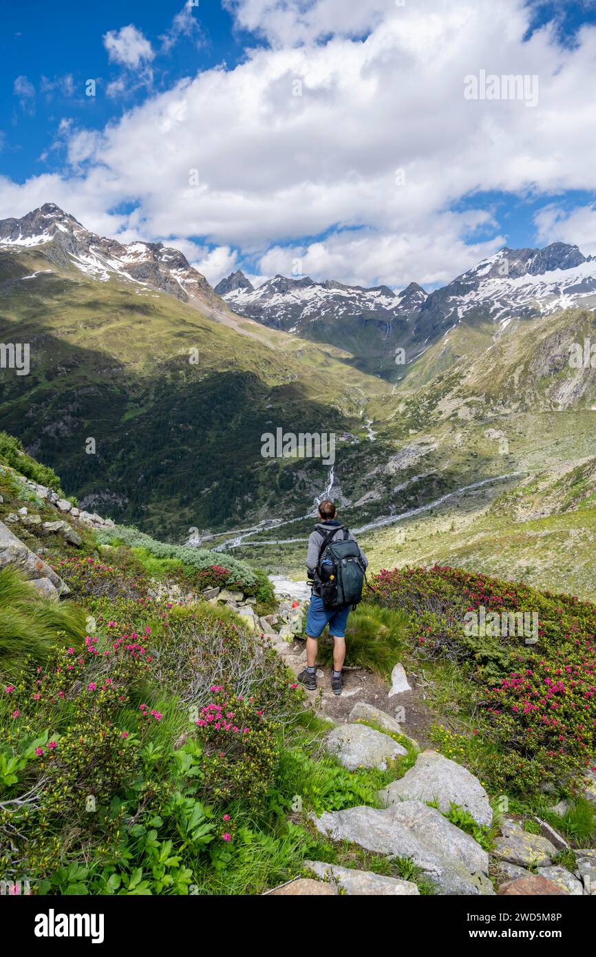
[[[233,273],[52,203],[0,221],[0,428],[81,507],[301,573],[317,498],[372,568],[596,586],[596,259],[502,249],[428,293]],[[587,361],[570,362],[570,356]],[[332,467],[263,434],[335,434]],[[573,561],[569,556],[573,556]]]

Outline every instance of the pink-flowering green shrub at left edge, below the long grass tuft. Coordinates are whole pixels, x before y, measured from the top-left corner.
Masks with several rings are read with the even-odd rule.
[[[4,788],[0,782],[0,837],[5,844],[12,835],[19,861],[35,876],[52,870],[62,853],[61,822],[68,821],[73,837],[89,839],[138,773],[143,713],[133,719],[133,733],[121,718],[135,714],[131,693],[146,679],[150,659],[137,634],[115,635],[103,646],[87,636],[84,651],[56,649],[46,666],[24,671],[4,689],[1,754],[13,773]],[[116,815],[110,826],[118,823]],[[24,845],[14,840],[22,830]]]

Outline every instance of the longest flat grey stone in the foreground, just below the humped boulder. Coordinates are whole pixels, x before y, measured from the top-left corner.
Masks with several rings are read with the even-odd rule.
[[[404,801],[390,808],[347,808],[314,818],[322,835],[387,857],[411,857],[443,894],[494,894],[489,857],[474,837],[435,808]]]

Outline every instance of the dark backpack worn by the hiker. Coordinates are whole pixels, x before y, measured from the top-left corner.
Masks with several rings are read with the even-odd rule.
[[[334,542],[339,531],[343,532],[343,538]],[[346,605],[356,608],[363,597],[364,572],[360,548],[356,542],[348,540],[347,528],[343,525],[332,528],[320,546],[317,565],[320,597],[325,605],[330,608],[344,608]]]

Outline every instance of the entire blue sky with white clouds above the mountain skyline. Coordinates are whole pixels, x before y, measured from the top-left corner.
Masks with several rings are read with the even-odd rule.
[[[2,216],[52,200],[212,282],[432,288],[503,244],[596,253],[592,0],[33,0],[0,24]],[[480,71],[540,102],[466,101]]]

